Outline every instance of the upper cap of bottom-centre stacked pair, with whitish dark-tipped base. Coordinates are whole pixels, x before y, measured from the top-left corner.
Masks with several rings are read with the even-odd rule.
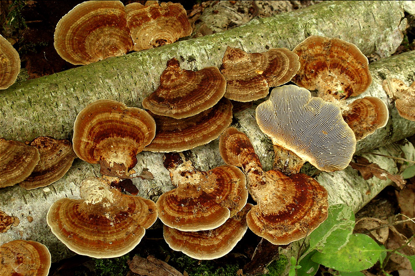
[[[196,170],[183,154],[166,154],[164,166],[176,189],[156,202],[160,220],[181,231],[211,230],[221,226],[246,204],[245,175],[236,166]]]

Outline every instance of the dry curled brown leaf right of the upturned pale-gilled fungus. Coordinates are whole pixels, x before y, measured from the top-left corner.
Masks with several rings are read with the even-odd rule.
[[[382,180],[386,180],[387,178],[389,178],[399,188],[403,189],[405,187],[406,182],[402,178],[402,176],[391,174],[388,171],[381,168],[378,164],[370,163],[369,160],[361,156],[356,156],[356,161],[358,163],[351,162],[350,166],[354,169],[357,169],[364,180],[368,180],[373,176],[376,176],[377,178]]]

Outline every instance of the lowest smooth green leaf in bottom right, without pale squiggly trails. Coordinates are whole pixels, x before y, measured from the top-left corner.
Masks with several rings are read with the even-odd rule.
[[[344,272],[356,272],[372,267],[383,249],[369,236],[352,234],[349,243],[336,252],[316,252],[311,259],[326,267]]]

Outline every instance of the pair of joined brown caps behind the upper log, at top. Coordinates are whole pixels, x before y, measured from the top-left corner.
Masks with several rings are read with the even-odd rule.
[[[84,65],[130,51],[150,49],[190,35],[179,3],[85,1],[70,10],[55,29],[55,49],[66,61]]]

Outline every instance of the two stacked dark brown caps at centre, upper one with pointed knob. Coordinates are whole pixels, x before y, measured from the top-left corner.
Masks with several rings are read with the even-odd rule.
[[[157,125],[155,138],[144,150],[179,152],[218,138],[232,122],[225,87],[217,67],[191,71],[181,69],[175,58],[168,60],[160,86],[143,100]]]

